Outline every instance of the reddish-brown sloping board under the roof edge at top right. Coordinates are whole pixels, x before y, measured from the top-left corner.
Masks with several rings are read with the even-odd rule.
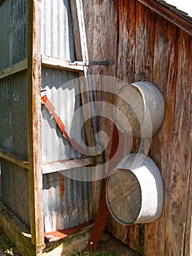
[[[172,12],[168,8],[164,7],[162,4],[158,3],[154,0],[137,0],[142,4],[145,4],[147,7],[149,7],[154,12],[157,12],[159,15],[166,18],[166,20],[169,20],[170,22],[174,23],[174,25],[180,27],[180,29],[185,30],[189,34],[192,34],[192,23],[188,20],[185,20],[185,18],[181,17],[180,15],[177,15],[176,13]]]

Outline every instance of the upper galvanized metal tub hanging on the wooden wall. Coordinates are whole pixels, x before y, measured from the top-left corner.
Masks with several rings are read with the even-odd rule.
[[[118,128],[136,138],[152,138],[164,120],[165,103],[161,91],[150,82],[124,86],[115,99]]]

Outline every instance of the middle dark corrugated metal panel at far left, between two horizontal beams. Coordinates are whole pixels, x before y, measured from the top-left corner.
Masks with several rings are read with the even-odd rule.
[[[28,159],[27,74],[0,81],[0,148]]]

